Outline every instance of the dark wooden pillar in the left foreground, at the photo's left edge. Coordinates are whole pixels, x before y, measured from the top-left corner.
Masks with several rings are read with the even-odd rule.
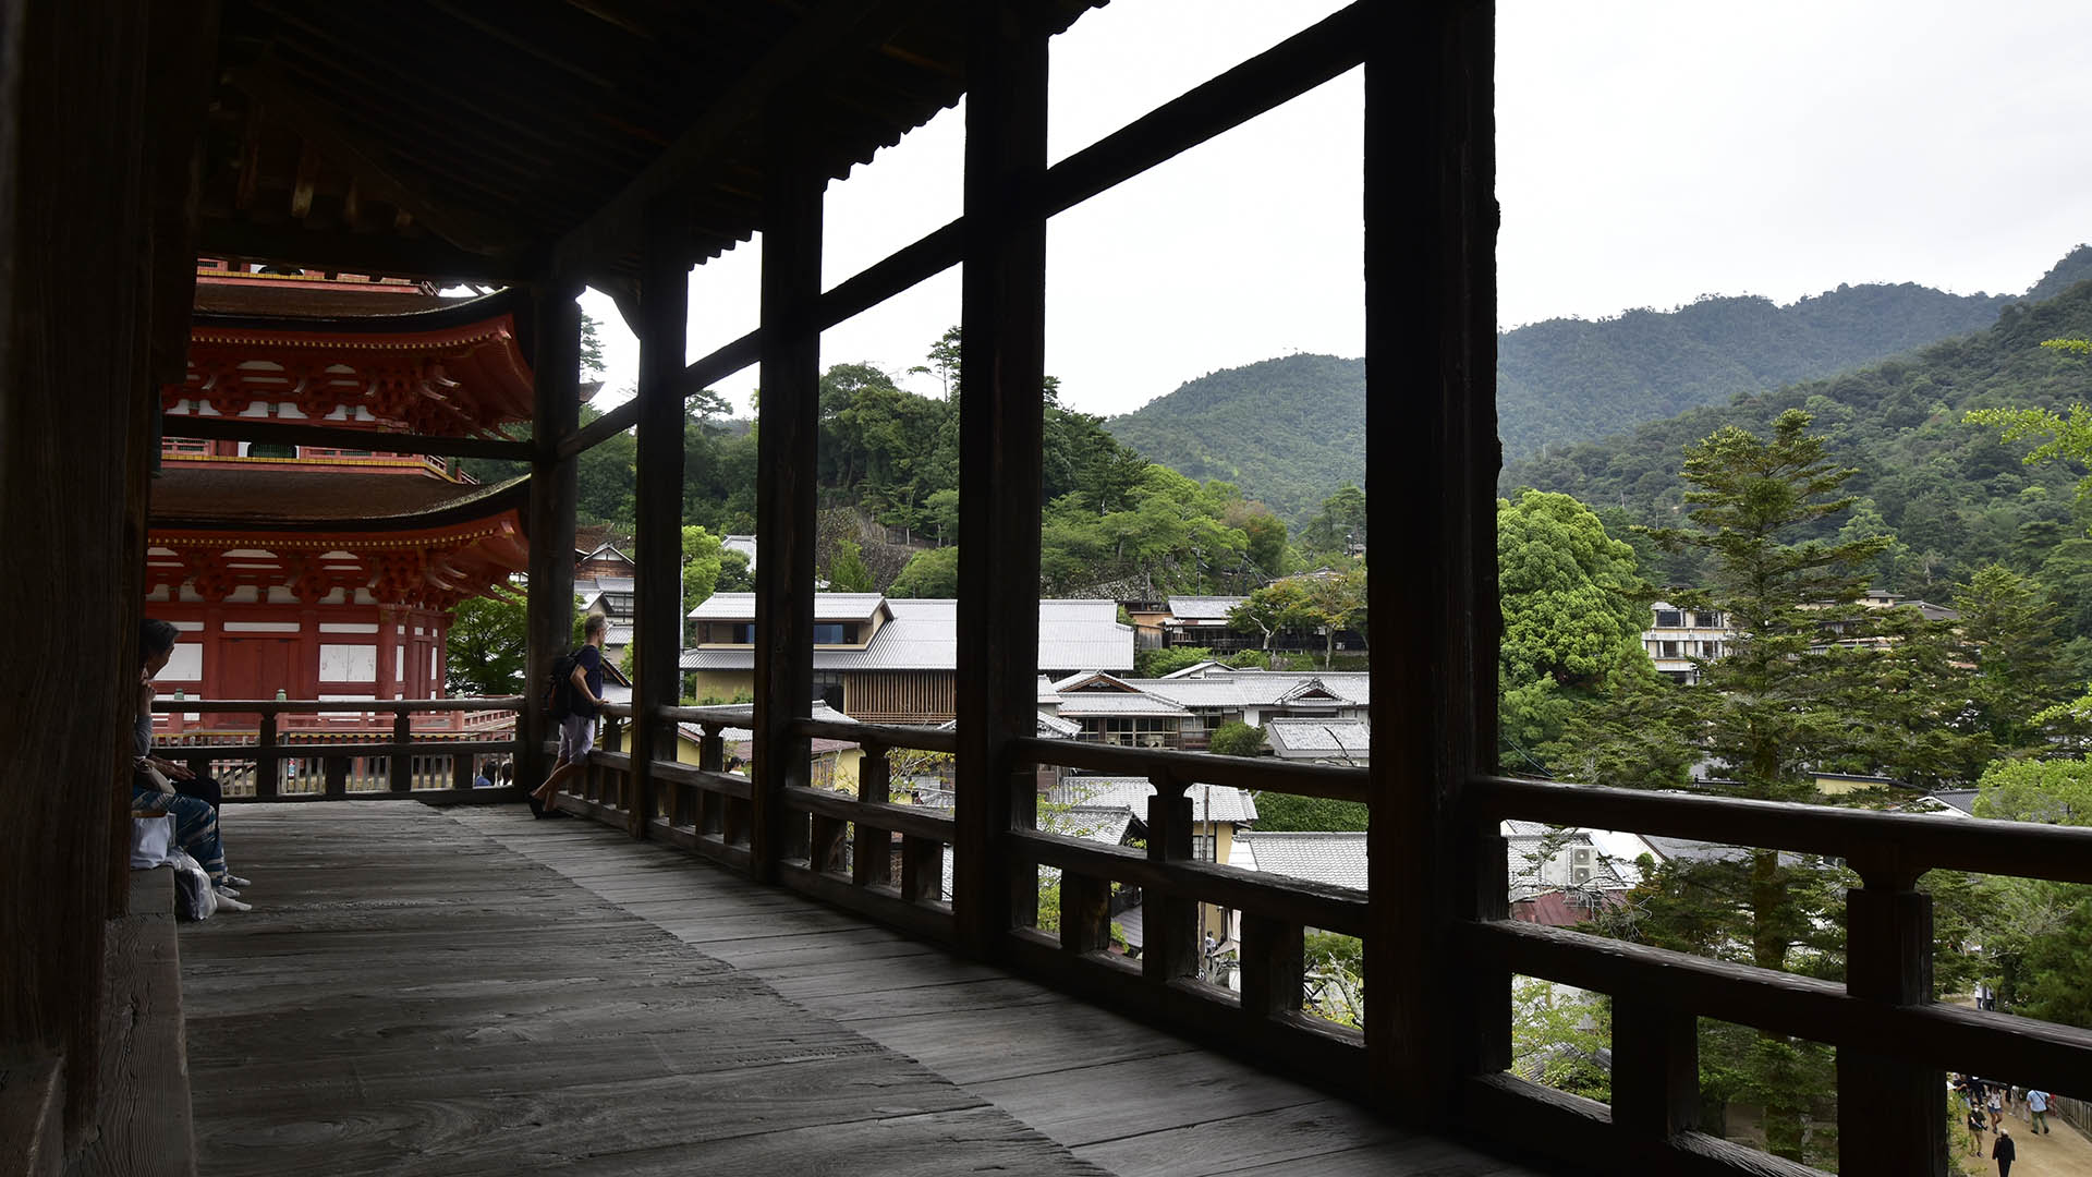
[[[67,1150],[98,1110],[103,919],[123,909],[128,880],[153,314],[163,304],[161,327],[184,331],[186,304],[161,283],[195,268],[167,226],[195,224],[192,138],[174,134],[201,128],[207,52],[176,31],[186,23],[209,44],[211,21],[197,4],[0,6],[0,542],[38,553],[36,576],[4,599],[38,618],[15,643],[25,664],[65,668],[15,693],[0,737],[13,815],[0,880],[38,896],[0,911],[0,1056],[63,1056]],[[36,1150],[48,1139],[23,1141],[23,1162],[56,1171],[63,1158]]]

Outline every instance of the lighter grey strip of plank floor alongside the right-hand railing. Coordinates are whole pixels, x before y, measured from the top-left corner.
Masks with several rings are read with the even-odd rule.
[[[833,1018],[954,1081],[1021,1120],[1023,1131],[1075,1148],[1098,1173],[1531,1177],[782,888],[751,886],[672,846],[586,821],[533,823],[515,806],[456,810],[450,819],[609,903],[630,905],[667,934],[772,984],[810,1016]],[[996,1148],[1017,1139],[981,1112],[939,1112],[923,1123],[931,1135]],[[745,1152],[707,1156],[724,1162],[722,1173],[971,1173],[954,1156],[910,1152],[897,1127],[877,1120],[835,1133],[793,1129],[747,1137]],[[692,1169],[676,1150],[634,1150],[559,1169],[569,1171],[642,1177]]]

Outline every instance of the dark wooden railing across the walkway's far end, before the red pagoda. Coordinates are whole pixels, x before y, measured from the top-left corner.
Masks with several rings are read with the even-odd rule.
[[[268,800],[515,800],[515,787],[477,790],[473,779],[483,756],[513,758],[517,735],[481,739],[431,739],[414,729],[414,714],[462,714],[467,725],[479,714],[508,714],[519,697],[494,699],[155,699],[159,714],[255,716],[253,735],[188,731],[178,743],[155,746],[155,754],[180,760],[197,775],[218,777],[226,802]],[[297,729],[282,716],[389,714],[389,739],[356,739],[356,733]],[[450,731],[450,729],[446,729]],[[471,731],[467,727],[464,731]],[[199,741],[209,739],[209,741]],[[303,769],[303,771],[301,771]]]

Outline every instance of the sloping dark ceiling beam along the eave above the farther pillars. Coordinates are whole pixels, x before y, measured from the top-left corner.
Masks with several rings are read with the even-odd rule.
[[[929,0],[824,0],[814,6],[705,107],[697,126],[563,237],[550,268],[588,272],[600,258],[630,251],[646,205],[672,191],[701,184],[726,149],[755,130],[772,98],[856,54],[877,50],[929,6]]]

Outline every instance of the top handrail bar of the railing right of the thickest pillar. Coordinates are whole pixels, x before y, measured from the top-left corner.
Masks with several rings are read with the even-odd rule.
[[[2029,821],[1954,821],[1772,800],[1709,798],[1515,777],[1466,785],[1475,819],[1632,829],[1720,846],[1764,846],[1920,873],[1956,869],[2092,884],[2092,829]]]

